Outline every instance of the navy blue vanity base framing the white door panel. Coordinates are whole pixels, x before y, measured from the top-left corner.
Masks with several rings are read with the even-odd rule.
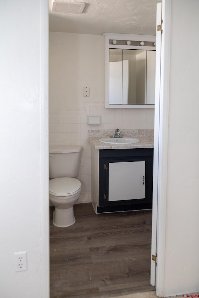
[[[144,197],[109,201],[109,166],[111,163],[144,161]],[[132,177],[133,179],[133,177]],[[121,187],[116,185],[115,187]],[[97,213],[152,209],[153,148],[99,150],[99,205]],[[133,195],[132,195],[133,196]]]

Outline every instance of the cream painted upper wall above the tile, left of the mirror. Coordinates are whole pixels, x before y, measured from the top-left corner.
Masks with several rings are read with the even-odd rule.
[[[50,111],[82,111],[85,101],[104,101],[104,47],[100,35],[49,32]]]

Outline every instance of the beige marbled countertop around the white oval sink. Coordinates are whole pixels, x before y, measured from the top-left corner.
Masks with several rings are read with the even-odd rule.
[[[106,144],[99,142],[98,138],[88,138],[89,143],[97,150],[102,149],[133,149],[133,148],[153,148],[154,146],[154,137],[147,137],[147,136],[137,136],[140,140],[139,143],[134,144],[125,144],[125,145],[118,145],[118,144]]]

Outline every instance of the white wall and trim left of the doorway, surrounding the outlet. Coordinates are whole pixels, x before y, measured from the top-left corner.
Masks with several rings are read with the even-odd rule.
[[[1,1],[0,10],[0,296],[47,298],[49,225],[41,210],[48,202],[44,190],[48,185],[48,130],[41,116],[48,119],[47,83],[43,81],[48,65],[48,51],[44,53],[48,3],[7,0]],[[49,218],[48,209],[45,214]],[[15,272],[14,252],[19,251],[27,251],[27,271]]]

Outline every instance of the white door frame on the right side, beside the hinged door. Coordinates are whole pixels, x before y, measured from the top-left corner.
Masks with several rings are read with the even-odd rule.
[[[155,123],[159,122],[159,142],[156,142],[156,148],[154,148],[155,152],[157,152],[156,154],[158,154],[158,168],[155,169],[158,173],[157,181],[155,182],[157,183],[157,266],[155,287],[156,295],[159,297],[162,297],[164,294],[171,1],[162,0],[163,31],[161,38],[160,106],[159,113],[155,114]]]

